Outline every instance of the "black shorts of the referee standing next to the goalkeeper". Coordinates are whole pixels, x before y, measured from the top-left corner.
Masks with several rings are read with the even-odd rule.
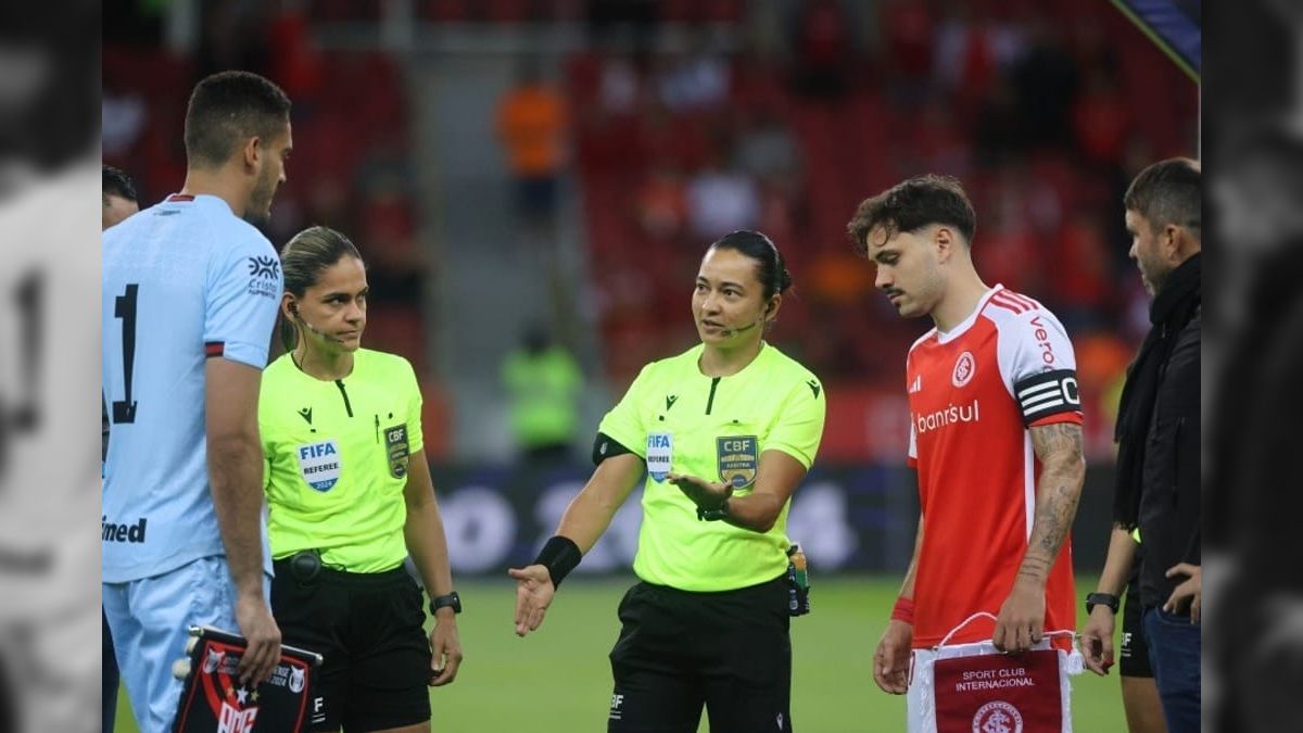
[[[313,730],[382,730],[430,720],[430,640],[421,590],[403,566],[322,569],[310,583],[276,561],[271,610],[284,643],[322,653]]]

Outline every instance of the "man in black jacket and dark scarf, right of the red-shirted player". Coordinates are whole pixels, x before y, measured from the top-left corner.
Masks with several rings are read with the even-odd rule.
[[[1197,163],[1154,163],[1123,200],[1131,258],[1154,296],[1118,411],[1114,527],[1100,591],[1087,596],[1087,664],[1111,664],[1113,614],[1136,540],[1140,622],[1167,729],[1200,726],[1200,340],[1203,181]],[[1135,599],[1128,599],[1134,603]]]

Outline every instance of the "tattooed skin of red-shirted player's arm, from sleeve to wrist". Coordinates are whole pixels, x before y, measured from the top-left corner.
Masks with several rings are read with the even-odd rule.
[[[1072,528],[1085,468],[1080,425],[1059,423],[1032,428],[1031,433],[1042,468],[1036,492],[1036,520],[1018,574],[1044,580]]]

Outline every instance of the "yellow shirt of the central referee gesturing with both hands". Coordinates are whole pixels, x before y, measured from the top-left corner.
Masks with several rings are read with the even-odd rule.
[[[809,468],[826,402],[818,378],[773,346],[761,344],[756,359],[728,377],[701,373],[702,350],[644,366],[598,429],[648,462],[633,560],[638,578],[684,591],[730,591],[786,571],[791,503],[765,533],[701,522],[665,473],[730,483],[735,496],[745,496],[766,450]]]

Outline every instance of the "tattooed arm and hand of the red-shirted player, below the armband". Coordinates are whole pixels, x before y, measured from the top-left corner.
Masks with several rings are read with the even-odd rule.
[[[1005,651],[1024,651],[1041,640],[1045,625],[1045,580],[1072,530],[1076,502],[1085,481],[1081,426],[1055,423],[1031,428],[1032,449],[1041,463],[1036,485],[1036,519],[1014,587],[999,609],[992,642]]]

